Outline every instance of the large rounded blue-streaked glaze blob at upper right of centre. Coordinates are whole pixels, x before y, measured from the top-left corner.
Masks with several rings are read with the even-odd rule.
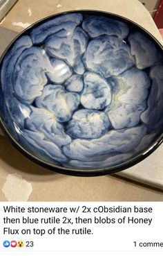
[[[88,70],[102,74],[105,78],[118,76],[134,65],[128,44],[108,35],[91,40],[83,60]]]

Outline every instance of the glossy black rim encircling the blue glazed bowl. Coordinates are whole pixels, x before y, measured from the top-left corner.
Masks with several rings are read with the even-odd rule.
[[[21,33],[19,33],[11,42],[8,44],[6,49],[3,51],[1,57],[0,57],[0,68],[1,64],[3,62],[3,58],[6,56],[6,53],[12,45],[21,37],[22,35],[26,35],[28,31],[31,31],[33,28],[37,27],[38,25],[43,24],[44,22],[55,18],[59,17],[60,15],[65,15],[68,13],[83,13],[86,14],[88,13],[92,15],[104,15],[105,17],[111,18],[111,19],[118,19],[119,21],[126,22],[126,24],[129,24],[130,26],[133,26],[135,28],[139,28],[140,31],[148,35],[148,37],[151,38],[155,42],[155,44],[163,51],[163,46],[162,44],[150,33],[148,32],[145,28],[140,26],[140,24],[137,24],[136,22],[133,22],[131,19],[128,19],[122,15],[117,15],[112,12],[106,12],[103,10],[90,10],[90,9],[78,9],[78,10],[68,10],[64,12],[57,12],[53,15],[44,17],[43,19],[39,19],[37,22],[31,24],[28,26],[28,28],[24,29]],[[1,73],[1,69],[0,69]],[[1,86],[1,80],[0,80],[0,86]],[[114,167],[103,167],[103,168],[98,168],[98,169],[77,169],[77,168],[69,168],[69,167],[59,167],[57,165],[52,164],[46,160],[41,160],[37,155],[33,155],[26,149],[25,146],[21,146],[19,142],[15,139],[14,136],[10,133],[10,128],[7,127],[6,122],[3,120],[3,114],[0,109],[0,127],[1,130],[3,131],[4,135],[9,139],[10,143],[24,156],[26,156],[29,160],[34,162],[35,164],[39,164],[39,166],[44,167],[50,171],[55,171],[57,173],[62,173],[62,174],[67,174],[70,176],[103,176],[107,174],[112,174],[112,173],[117,173],[119,171],[124,171],[125,169],[128,169],[129,167],[133,167],[133,165],[141,162],[144,160],[148,155],[151,155],[155,149],[160,146],[163,142],[163,133],[160,132],[159,135],[157,135],[157,139],[155,139],[155,142],[153,144],[150,144],[144,151],[141,151],[141,153],[137,154],[135,157],[132,157],[131,160],[128,160],[122,164],[116,164]]]

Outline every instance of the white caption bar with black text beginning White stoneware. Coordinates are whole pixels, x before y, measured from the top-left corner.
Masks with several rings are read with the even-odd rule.
[[[163,253],[162,203],[0,203],[0,212],[3,255]]]

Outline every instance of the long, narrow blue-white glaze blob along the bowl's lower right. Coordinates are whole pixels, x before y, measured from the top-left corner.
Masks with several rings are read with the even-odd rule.
[[[141,135],[140,135],[141,134]],[[107,153],[128,153],[133,150],[146,134],[145,126],[134,128],[111,130],[98,139],[74,139],[64,146],[66,156],[81,161],[104,160]],[[98,155],[98,157],[97,157]]]

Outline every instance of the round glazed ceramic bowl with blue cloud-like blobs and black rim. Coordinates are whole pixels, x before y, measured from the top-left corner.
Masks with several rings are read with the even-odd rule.
[[[1,126],[37,164],[74,175],[121,171],[162,142],[162,46],[105,12],[60,13],[1,58]]]

